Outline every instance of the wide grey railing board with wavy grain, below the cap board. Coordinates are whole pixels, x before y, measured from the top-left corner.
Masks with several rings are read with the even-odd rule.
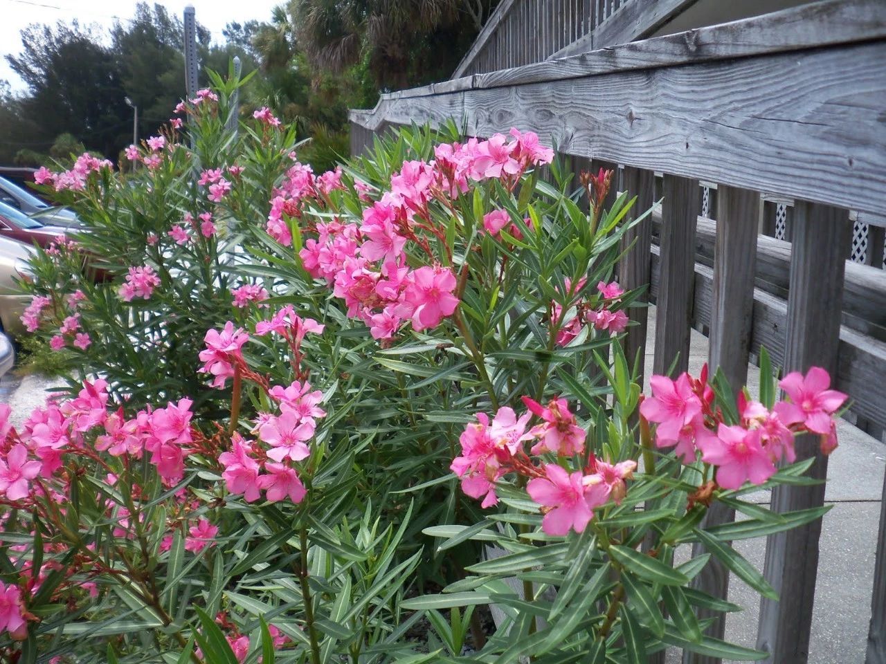
[[[465,118],[561,151],[744,189],[886,209],[886,41],[509,89],[382,100],[376,120]],[[630,100],[630,101],[628,101]],[[371,127],[370,127],[371,128]]]

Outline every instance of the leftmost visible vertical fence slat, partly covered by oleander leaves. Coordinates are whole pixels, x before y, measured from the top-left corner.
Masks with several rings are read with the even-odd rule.
[[[637,197],[631,212],[628,212],[629,219],[636,219],[652,206],[655,174],[645,169],[625,166],[622,184],[622,189],[627,192],[628,197]],[[633,246],[631,246],[632,243]],[[646,219],[628,230],[622,238],[622,251],[631,247],[618,263],[618,283],[623,289],[634,290],[649,284],[652,265],[649,254],[650,243],[652,243],[652,218],[651,215],[648,215]],[[649,322],[649,309],[646,307],[648,301],[649,293],[647,292],[637,300],[637,304],[640,306],[631,310],[631,320],[637,324],[627,328],[624,343],[625,356],[629,363],[633,363],[639,353],[640,374],[637,382],[641,385],[643,384],[643,360],[646,354],[646,329]]]

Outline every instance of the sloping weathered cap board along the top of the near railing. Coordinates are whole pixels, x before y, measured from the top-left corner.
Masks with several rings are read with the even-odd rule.
[[[629,69],[650,69],[764,53],[855,43],[883,36],[886,6],[880,0],[824,0],[675,35],[618,44],[568,57],[555,54],[518,69],[483,73],[478,86],[519,85]],[[571,48],[571,47],[570,47]]]

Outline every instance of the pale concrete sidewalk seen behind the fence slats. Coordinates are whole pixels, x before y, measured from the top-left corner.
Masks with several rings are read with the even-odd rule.
[[[649,394],[656,308],[649,311],[645,393]],[[689,372],[697,375],[707,360],[707,337],[692,332]],[[759,370],[748,372],[751,394],[758,394]],[[834,507],[825,515],[820,540],[818,583],[812,614],[809,664],[862,664],[871,619],[874,554],[880,523],[886,445],[853,427],[837,424],[840,446],[828,459],[825,499]],[[769,492],[751,494],[755,502],[769,502]],[[734,548],[763,570],[766,539],[748,539]],[[727,641],[754,647],[757,641],[759,596],[742,581],[729,580],[729,599],[745,610],[727,616]],[[680,651],[668,652],[667,664],[680,662]]]

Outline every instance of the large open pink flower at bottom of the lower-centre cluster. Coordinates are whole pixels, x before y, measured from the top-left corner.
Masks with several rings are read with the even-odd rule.
[[[585,500],[584,477],[579,471],[567,473],[555,463],[545,467],[547,477],[535,477],[526,491],[545,512],[541,529],[548,535],[563,537],[570,529],[583,532],[594,513]]]

